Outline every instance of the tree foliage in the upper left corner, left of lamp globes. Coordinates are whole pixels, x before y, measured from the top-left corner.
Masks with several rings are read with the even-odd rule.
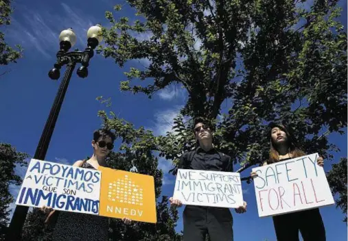
[[[0,1],[0,26],[10,25],[10,15],[13,10],[11,8],[11,0]],[[15,62],[22,57],[22,49],[19,45],[16,45],[16,49],[13,49],[5,42],[5,34],[0,31],[0,64],[7,65],[10,62]]]

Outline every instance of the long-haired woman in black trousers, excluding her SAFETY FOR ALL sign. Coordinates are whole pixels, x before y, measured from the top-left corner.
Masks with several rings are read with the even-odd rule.
[[[283,162],[306,155],[298,147],[292,129],[283,123],[270,123],[270,155],[264,166],[275,162]],[[319,166],[324,165],[323,157],[316,160]],[[257,177],[251,172],[251,177]],[[325,241],[325,227],[318,208],[273,216],[273,224],[278,241],[298,241],[299,231],[303,241]]]

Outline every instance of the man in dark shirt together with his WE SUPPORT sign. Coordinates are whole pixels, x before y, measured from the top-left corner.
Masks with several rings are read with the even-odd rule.
[[[204,241],[207,235],[211,241],[231,241],[233,218],[228,207],[237,203],[236,212],[246,212],[240,176],[236,173],[222,173],[233,172],[231,157],[213,148],[212,127],[207,121],[196,118],[194,134],[199,147],[181,156],[174,197],[170,198],[170,204],[174,207],[181,207],[183,203],[193,204],[187,205],[183,212],[184,241]],[[183,189],[188,188],[192,192],[178,199],[177,189],[183,186]],[[218,205],[219,201],[224,203]]]

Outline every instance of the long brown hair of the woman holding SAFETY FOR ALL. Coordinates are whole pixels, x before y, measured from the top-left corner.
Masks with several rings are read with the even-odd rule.
[[[306,155],[305,152],[299,149],[299,147],[297,146],[297,141],[294,138],[294,135],[292,134],[292,129],[290,127],[286,127],[286,125],[284,125],[283,123],[270,123],[270,131],[268,134],[268,138],[270,139],[270,155],[267,161],[268,164],[279,162],[279,153],[277,151],[275,143],[272,140],[272,129],[274,127],[279,127],[279,129],[286,133],[286,137],[288,139],[288,153],[290,154],[290,157],[295,158]]]

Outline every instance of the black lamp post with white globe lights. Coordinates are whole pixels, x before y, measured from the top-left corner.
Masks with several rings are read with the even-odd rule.
[[[60,40],[60,50],[57,53],[57,62],[54,64],[54,68],[49,71],[48,76],[51,79],[59,79],[60,68],[67,65],[65,75],[60,83],[56,99],[51,107],[47,122],[43,129],[43,134],[41,135],[40,141],[38,142],[38,147],[34,155],[34,159],[45,160],[47,149],[49,147],[49,142],[56,126],[56,121],[58,114],[60,112],[60,107],[67,92],[69,81],[77,63],[81,63],[82,66],[78,68],[77,74],[79,77],[85,78],[88,75],[89,60],[94,55],[94,49],[97,47],[100,41],[102,41],[101,36],[101,26],[95,25],[90,27],[87,31],[87,47],[84,51],[71,51],[69,49],[73,47],[76,43],[76,35],[72,29],[63,30],[59,35]],[[11,219],[10,226],[7,229],[5,240],[15,241],[21,240],[21,233],[25,218],[27,216],[27,211],[29,207],[16,205],[14,213]]]

